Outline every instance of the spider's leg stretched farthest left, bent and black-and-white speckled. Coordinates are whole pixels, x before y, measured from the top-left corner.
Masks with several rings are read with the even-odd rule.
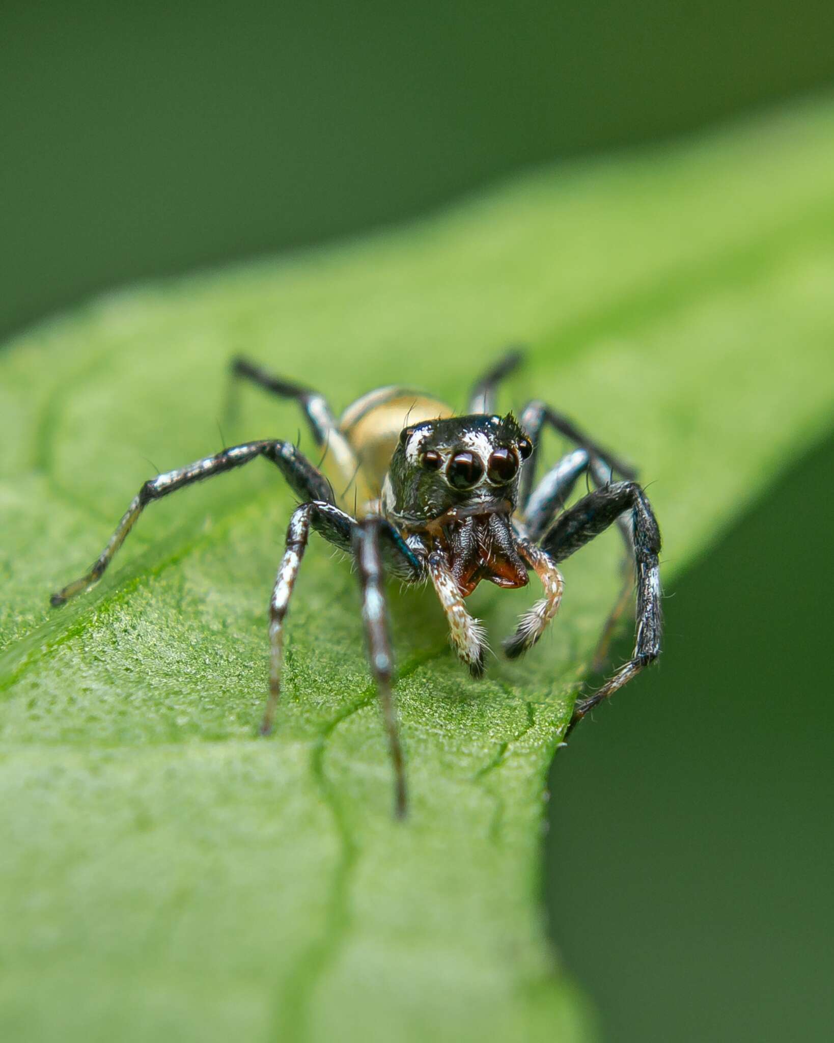
[[[136,525],[137,518],[152,500],[161,500],[194,482],[201,482],[235,467],[242,467],[256,457],[265,457],[276,464],[293,490],[304,500],[330,501],[330,488],[324,477],[290,442],[259,441],[234,445],[216,456],[205,457],[187,467],[157,475],[156,478],[145,482],[130,501],[129,507],[98,558],[83,576],[52,595],[50,599],[52,605],[63,605],[69,598],[80,593],[101,578]]]

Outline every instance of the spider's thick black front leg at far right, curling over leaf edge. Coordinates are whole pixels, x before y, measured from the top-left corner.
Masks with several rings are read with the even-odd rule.
[[[631,511],[632,515],[637,573],[637,633],[634,652],[632,658],[598,692],[577,704],[568,730],[660,655],[663,631],[658,564],[660,530],[652,505],[640,486],[635,482],[616,482],[595,489],[565,511],[542,540],[543,550],[555,562],[564,561],[627,511]]]

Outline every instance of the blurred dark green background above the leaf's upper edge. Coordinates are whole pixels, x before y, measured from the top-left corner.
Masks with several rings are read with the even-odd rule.
[[[0,334],[834,76],[831,0],[4,0]]]

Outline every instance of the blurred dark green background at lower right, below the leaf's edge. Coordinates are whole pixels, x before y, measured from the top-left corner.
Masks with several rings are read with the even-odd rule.
[[[832,475],[834,439],[667,591],[659,666],[551,770],[550,932],[608,1039],[831,1039]]]

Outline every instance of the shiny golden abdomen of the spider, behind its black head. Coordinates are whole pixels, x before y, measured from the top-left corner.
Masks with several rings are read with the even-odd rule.
[[[404,387],[385,387],[358,398],[342,414],[339,430],[357,455],[360,472],[355,481],[360,491],[360,514],[366,501],[376,500],[383,489],[391,457],[403,428],[423,420],[453,416],[445,403],[420,391]],[[345,495],[353,506],[353,489]]]

